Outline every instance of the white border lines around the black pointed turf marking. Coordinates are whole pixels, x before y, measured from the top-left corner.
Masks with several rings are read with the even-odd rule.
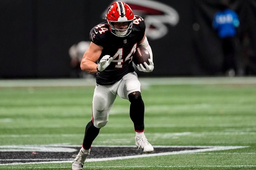
[[[61,144],[55,144],[54,146],[59,146]],[[45,145],[32,145],[32,149],[35,148],[35,146],[40,147]],[[52,145],[49,145],[52,147]],[[71,146],[77,146],[77,145],[62,145],[63,148],[64,146],[66,147],[71,147]],[[105,147],[114,147],[115,145],[99,145],[99,146],[105,146]],[[129,147],[135,147],[134,145],[128,145]],[[12,152],[18,152],[19,149],[21,148],[27,148],[29,145],[5,145],[1,146],[2,148],[16,148],[16,150],[11,150]],[[81,145],[80,145],[81,147]],[[95,147],[95,146],[94,146]],[[116,145],[116,147],[120,147]],[[124,146],[122,146],[124,147]],[[155,146],[155,147],[163,147],[163,146]],[[167,146],[164,146],[167,147]],[[169,147],[182,147],[182,146],[169,146]],[[189,147],[189,146],[185,146]],[[188,153],[196,153],[196,152],[210,152],[210,151],[222,151],[222,150],[229,150],[229,149],[240,149],[240,148],[246,148],[249,146],[192,146],[192,147],[198,147],[198,148],[204,148],[204,149],[195,149],[195,150],[185,150],[185,151],[175,151],[175,152],[162,152],[162,153],[152,153],[152,154],[143,154],[143,155],[132,155],[132,156],[120,156],[120,157],[112,157],[112,158],[88,158],[86,159],[86,162],[96,162],[96,161],[109,161],[109,160],[122,160],[122,159],[133,159],[133,158],[145,158],[145,157],[153,157],[153,156],[166,156],[166,155],[176,155],[176,154],[188,154]],[[210,148],[208,148],[210,147]],[[47,149],[47,147],[45,147]],[[58,147],[57,147],[58,148]],[[1,152],[2,150],[0,150]],[[34,150],[32,150],[33,152]],[[47,150],[46,150],[47,151]],[[60,152],[67,152],[65,149],[61,149]],[[2,151],[3,152],[3,151]],[[6,152],[6,151],[4,151]],[[22,160],[22,159],[20,159]],[[8,164],[0,164],[0,165],[24,165],[24,164],[45,164],[45,163],[71,163],[72,160],[61,160],[61,161],[51,161],[51,162],[30,162],[30,163],[21,163],[21,162],[16,162],[16,163],[8,163]]]

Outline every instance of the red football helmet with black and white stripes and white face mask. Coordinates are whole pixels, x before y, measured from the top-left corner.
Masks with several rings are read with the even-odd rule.
[[[133,18],[134,15],[129,5],[120,1],[111,4],[106,14],[111,33],[118,37],[125,37],[132,32]],[[120,25],[123,28],[119,27]]]

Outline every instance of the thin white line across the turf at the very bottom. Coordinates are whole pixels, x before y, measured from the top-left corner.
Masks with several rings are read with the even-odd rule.
[[[0,169],[15,169],[15,168],[20,168],[20,169],[34,169],[34,168],[37,168],[37,169],[41,169],[41,168],[70,168],[71,166],[56,166],[56,167],[0,167]],[[256,165],[173,165],[173,166],[84,166],[85,168],[179,168],[179,167],[256,167]]]

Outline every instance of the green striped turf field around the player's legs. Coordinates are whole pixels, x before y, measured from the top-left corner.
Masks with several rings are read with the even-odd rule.
[[[256,78],[140,81],[145,134],[153,146],[244,148],[92,161],[85,162],[84,169],[256,169]],[[0,80],[0,154],[3,145],[81,145],[92,117],[93,90],[94,80]],[[93,145],[134,145],[129,105],[116,98],[109,122]],[[11,158],[0,160],[5,159]],[[63,163],[1,164],[0,170],[68,170],[71,159],[72,155]]]

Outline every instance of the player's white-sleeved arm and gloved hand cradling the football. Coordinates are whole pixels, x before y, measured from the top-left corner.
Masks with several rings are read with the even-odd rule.
[[[144,37],[142,38],[142,40],[139,42],[139,45],[141,45],[142,47],[146,48],[150,54],[150,59],[148,59],[148,62],[149,62],[149,65],[144,62],[144,65],[146,68],[144,68],[141,65],[137,65],[137,69],[140,70],[140,71],[144,71],[144,72],[151,72],[154,70],[154,63],[153,63],[153,53],[152,53],[152,49],[148,43],[148,39],[146,37],[146,33],[144,34]]]

